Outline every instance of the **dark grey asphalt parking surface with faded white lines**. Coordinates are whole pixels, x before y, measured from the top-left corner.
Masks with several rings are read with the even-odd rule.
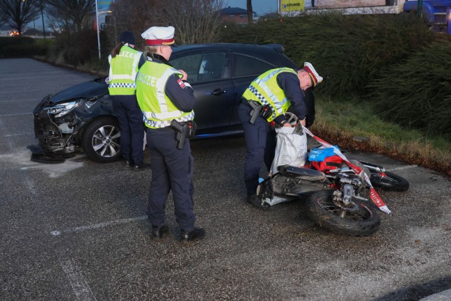
[[[205,240],[150,240],[150,170],[82,153],[30,161],[33,107],[92,79],[32,59],[0,60],[0,300],[419,300],[451,288],[451,182],[374,154],[410,182],[383,192],[392,214],[352,238],[315,226],[302,201],[244,203],[242,136],[192,141],[197,225]],[[333,141],[330,141],[333,143]],[[149,154],[146,152],[149,162]]]

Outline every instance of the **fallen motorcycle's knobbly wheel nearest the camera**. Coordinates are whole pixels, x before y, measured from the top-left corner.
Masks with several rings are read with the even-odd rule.
[[[306,214],[323,228],[348,236],[370,236],[379,229],[381,217],[369,201],[352,198],[353,210],[335,205],[333,190],[315,192],[305,203]]]

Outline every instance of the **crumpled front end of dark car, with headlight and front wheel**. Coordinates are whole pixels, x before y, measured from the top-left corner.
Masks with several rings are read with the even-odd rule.
[[[45,157],[72,157],[76,147],[97,162],[111,162],[120,155],[119,123],[104,78],[47,95],[33,116],[40,153]]]

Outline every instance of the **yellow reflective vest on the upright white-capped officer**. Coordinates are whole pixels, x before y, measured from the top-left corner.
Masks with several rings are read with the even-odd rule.
[[[185,122],[194,118],[194,111],[180,111],[164,93],[166,82],[174,74],[183,76],[179,70],[154,61],[146,61],[138,72],[136,99],[148,128],[165,128],[173,119]]]

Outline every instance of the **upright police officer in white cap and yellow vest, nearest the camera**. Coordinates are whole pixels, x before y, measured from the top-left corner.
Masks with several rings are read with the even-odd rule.
[[[172,190],[180,242],[188,243],[205,236],[204,229],[194,227],[193,156],[189,139],[183,140],[180,130],[194,118],[194,93],[186,82],[187,74],[168,63],[175,46],[174,27],[152,26],[141,36],[145,38],[147,61],[136,78],[136,95],[145,115],[152,160],[148,204],[152,239],[161,240],[168,234],[164,215]]]

